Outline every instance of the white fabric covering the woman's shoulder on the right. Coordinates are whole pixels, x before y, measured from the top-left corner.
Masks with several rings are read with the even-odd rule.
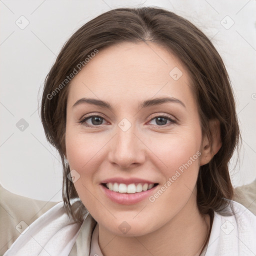
[[[242,204],[228,200],[230,215],[214,212],[205,256],[250,256],[256,252],[256,216]]]

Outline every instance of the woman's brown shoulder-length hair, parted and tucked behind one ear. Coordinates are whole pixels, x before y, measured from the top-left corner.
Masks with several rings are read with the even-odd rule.
[[[70,207],[70,199],[78,194],[67,178],[70,169],[64,154],[68,81],[63,81],[95,49],[100,51],[124,41],[150,41],[171,50],[189,71],[202,134],[210,141],[209,120],[219,120],[222,146],[209,163],[199,168],[197,205],[202,214],[212,214],[213,210],[221,213],[229,202],[225,198],[233,197],[228,162],[240,136],[227,71],[213,44],[191,22],[163,8],[141,7],[112,9],[85,23],[64,44],[45,78],[41,121],[47,140],[61,156],[62,197],[68,216],[81,222],[86,208],[81,202],[76,212]]]

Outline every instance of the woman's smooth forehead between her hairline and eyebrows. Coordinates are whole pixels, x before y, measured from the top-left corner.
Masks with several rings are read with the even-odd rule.
[[[88,96],[132,103],[172,96],[194,103],[190,77],[181,61],[155,43],[122,42],[99,50],[72,78],[68,103]]]

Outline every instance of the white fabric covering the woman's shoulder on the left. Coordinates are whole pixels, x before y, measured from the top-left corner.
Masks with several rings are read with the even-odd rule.
[[[80,200],[72,200],[71,207],[77,208]],[[89,213],[84,222],[90,223]],[[81,225],[66,214],[64,203],[58,202],[31,223],[20,235],[4,256],[39,255],[46,250],[50,255],[68,255],[73,247]]]

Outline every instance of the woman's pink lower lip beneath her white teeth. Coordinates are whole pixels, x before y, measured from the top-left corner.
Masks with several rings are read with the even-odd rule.
[[[158,185],[148,189],[146,191],[136,192],[136,193],[119,193],[115,191],[111,191],[102,184],[100,187],[103,189],[105,194],[114,202],[119,204],[134,204],[139,201],[144,200],[145,198],[149,197],[149,195],[155,190]]]

